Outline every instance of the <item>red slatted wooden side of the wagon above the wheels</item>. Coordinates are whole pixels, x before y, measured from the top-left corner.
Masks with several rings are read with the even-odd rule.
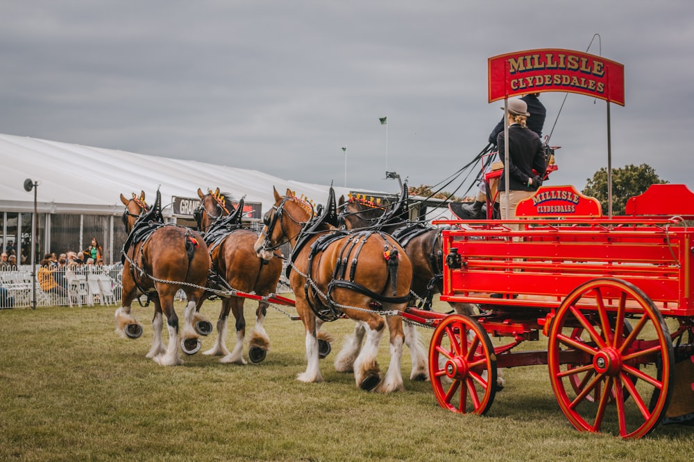
[[[694,229],[681,220],[527,220],[453,224],[443,251],[441,299],[527,308],[558,308],[575,287],[620,278],[640,287],[666,315],[694,316]],[[509,224],[523,224],[514,231]],[[490,298],[502,294],[503,298]],[[510,300],[509,300],[510,299]]]

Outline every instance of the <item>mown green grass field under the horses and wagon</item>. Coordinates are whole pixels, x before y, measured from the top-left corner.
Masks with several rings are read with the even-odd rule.
[[[255,303],[246,305],[252,325]],[[638,441],[577,432],[546,366],[505,371],[507,386],[487,416],[457,415],[437,405],[428,382],[409,380],[407,350],[402,393],[366,393],[352,374],[336,373],[351,321],[324,326],[336,337],[321,363],[325,381],[303,384],[295,380],[305,368],[303,326],[276,310],[265,323],[273,344],[264,362],[220,364],[198,353],[177,367],[144,357],[151,308],[133,308],[144,325],[137,340],[115,334],[114,310],[0,310],[0,460],[691,459],[692,427],[657,427]],[[205,303],[210,319],[218,312],[219,302]],[[428,346],[432,331],[419,332]],[[382,368],[387,351],[384,338]]]

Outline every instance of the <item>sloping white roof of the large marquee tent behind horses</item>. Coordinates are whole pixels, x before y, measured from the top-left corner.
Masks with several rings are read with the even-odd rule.
[[[136,154],[121,150],[60,143],[27,136],[0,134],[0,210],[33,211],[33,191],[24,190],[24,179],[40,181],[37,207],[44,213],[112,213],[123,211],[120,194],[144,190],[147,198],[160,187],[162,204],[171,197],[197,197],[201,188],[219,188],[235,199],[261,202],[263,211],[274,203],[272,188],[287,188],[316,204],[325,202],[330,186],[273,177],[257,170],[219,166]],[[337,197],[349,193],[335,186]],[[377,193],[374,191],[374,193]],[[170,213],[171,208],[167,208]]]

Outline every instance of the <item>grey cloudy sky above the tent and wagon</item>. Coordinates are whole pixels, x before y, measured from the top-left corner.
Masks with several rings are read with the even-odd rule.
[[[598,33],[589,53],[625,65],[613,167],[693,184],[691,0],[26,0],[0,17],[1,133],[337,186],[347,145],[347,186],[378,190],[397,189],[386,169],[438,184],[484,148],[502,114],[487,58]],[[541,100],[548,134],[564,94]],[[606,103],[569,95],[550,144],[552,183],[583,188],[607,166]]]

